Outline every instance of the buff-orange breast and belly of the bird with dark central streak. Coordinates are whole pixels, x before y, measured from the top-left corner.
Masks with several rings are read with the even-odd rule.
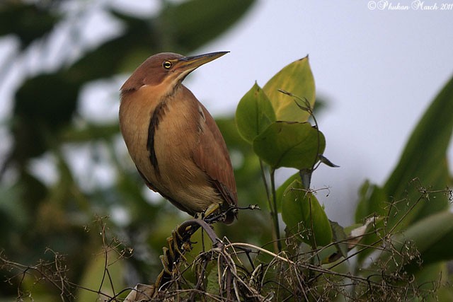
[[[185,206],[176,205],[190,214],[217,202],[217,192],[193,161],[205,121],[187,88],[167,97],[156,97],[147,86],[124,95],[120,127],[132,160],[158,192],[184,202]]]

